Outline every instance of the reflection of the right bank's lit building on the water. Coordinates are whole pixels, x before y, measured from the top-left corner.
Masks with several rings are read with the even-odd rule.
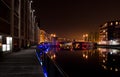
[[[103,48],[99,48],[98,50],[102,59],[101,66],[105,70],[120,71],[120,50]]]

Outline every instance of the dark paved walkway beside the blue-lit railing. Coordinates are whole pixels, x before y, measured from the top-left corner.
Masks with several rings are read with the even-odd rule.
[[[35,49],[0,55],[0,77],[44,77]]]

